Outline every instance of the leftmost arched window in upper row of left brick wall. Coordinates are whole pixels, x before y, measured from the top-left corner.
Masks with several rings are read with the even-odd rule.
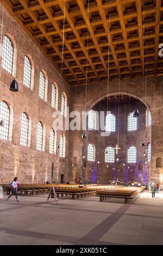
[[[2,68],[12,74],[14,48],[7,35],[3,38]]]

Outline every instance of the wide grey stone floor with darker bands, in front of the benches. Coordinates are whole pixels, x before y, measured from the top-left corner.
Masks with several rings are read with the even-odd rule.
[[[47,194],[0,199],[0,245],[162,245],[163,192],[127,204]]]

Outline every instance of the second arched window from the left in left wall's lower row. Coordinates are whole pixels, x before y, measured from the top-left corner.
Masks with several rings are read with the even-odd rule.
[[[20,144],[27,146],[28,145],[28,129],[29,129],[29,121],[28,117],[25,113],[22,113],[21,117],[21,136],[20,136]]]

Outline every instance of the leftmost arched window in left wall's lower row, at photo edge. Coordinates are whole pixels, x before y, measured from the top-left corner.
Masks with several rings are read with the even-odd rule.
[[[0,121],[1,120],[4,121],[4,126],[0,126],[0,138],[8,140],[10,111],[7,103],[4,101],[0,102]]]

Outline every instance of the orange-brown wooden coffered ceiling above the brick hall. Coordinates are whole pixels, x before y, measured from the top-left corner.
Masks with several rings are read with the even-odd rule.
[[[163,75],[163,0],[0,1],[70,84]]]

